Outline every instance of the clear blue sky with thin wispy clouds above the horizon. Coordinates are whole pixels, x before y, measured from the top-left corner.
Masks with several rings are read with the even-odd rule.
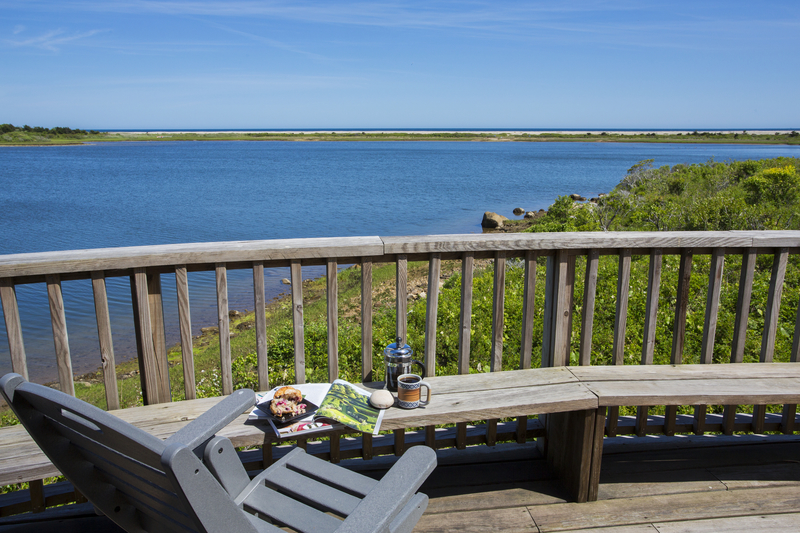
[[[0,122],[800,128],[800,2],[0,0]]]

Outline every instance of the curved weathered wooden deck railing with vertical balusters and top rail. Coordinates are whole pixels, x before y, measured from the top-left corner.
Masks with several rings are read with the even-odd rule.
[[[61,283],[76,279],[91,279],[95,303],[99,350],[102,356],[105,396],[109,409],[119,407],[115,375],[114,341],[108,312],[105,281],[111,277],[130,278],[131,302],[134,310],[136,347],[140,379],[145,404],[169,402],[169,368],[164,330],[164,305],[161,279],[175,276],[178,296],[178,324],[182,348],[185,397],[196,397],[196,386],[188,273],[213,271],[216,275],[216,299],[220,336],[220,366],[222,393],[233,390],[230,324],[228,309],[227,276],[231,270],[246,269],[252,272],[254,287],[257,372],[259,388],[270,386],[268,364],[267,324],[265,318],[264,279],[266,269],[289,268],[291,299],[294,317],[294,375],[303,382],[305,372],[305,347],[303,326],[303,283],[301,267],[325,266],[327,272],[328,321],[328,380],[339,375],[338,347],[338,276],[339,266],[360,265],[361,273],[361,344],[363,381],[382,377],[382,371],[373,368],[373,265],[396,264],[397,335],[407,338],[408,265],[410,261],[428,263],[427,311],[425,318],[424,363],[428,375],[436,373],[437,353],[437,303],[442,261],[455,260],[461,267],[461,304],[459,320],[459,351],[457,372],[470,371],[470,334],[473,328],[473,273],[476,262],[490,260],[494,267],[492,294],[492,339],[489,371],[502,370],[504,354],[503,331],[504,301],[506,298],[506,263],[513,260],[524,266],[524,294],[522,320],[514,327],[521,334],[519,368],[530,368],[540,363],[543,367],[570,364],[589,365],[593,351],[592,337],[595,320],[595,302],[598,287],[598,266],[601,256],[618,257],[617,289],[614,295],[614,333],[610,363],[625,364],[625,334],[631,283],[631,259],[649,256],[647,274],[647,300],[644,314],[641,364],[654,363],[657,310],[661,292],[664,258],[679,258],[680,272],[675,287],[674,325],[672,328],[672,364],[681,364],[687,336],[686,317],[689,301],[690,274],[693,259],[708,256],[710,262],[707,283],[707,300],[702,324],[701,353],[694,362],[711,363],[715,332],[718,322],[720,291],[726,257],[740,256],[741,271],[738,284],[735,327],[730,346],[730,361],[742,362],[745,338],[753,298],[753,279],[759,255],[771,256],[772,271],[766,297],[759,360],[771,362],[775,355],[778,332],[778,315],[784,278],[791,256],[800,254],[800,232],[626,232],[626,233],[545,233],[545,234],[485,234],[485,235],[432,235],[415,237],[349,237],[327,239],[291,239],[249,242],[223,242],[204,244],[179,244],[135,248],[80,250],[0,256],[0,298],[15,372],[28,375],[25,345],[17,306],[16,287],[22,284],[45,283],[50,303],[55,360],[60,388],[74,394],[72,361],[65,320]],[[577,259],[584,257],[585,272],[582,283],[582,305],[575,306]],[[540,259],[546,258],[546,260]],[[738,262],[738,261],[737,261]],[[538,265],[546,265],[544,272]],[[537,276],[544,276],[544,294],[536,294]],[[580,277],[580,276],[578,276]],[[540,290],[541,290],[540,283]],[[544,320],[535,330],[534,304],[544,303]],[[607,299],[606,299],[607,300]],[[794,312],[794,311],[793,311]],[[580,316],[578,316],[580,315]],[[800,317],[800,315],[798,315]],[[579,338],[573,341],[573,321],[580,320]],[[752,328],[751,328],[752,329]],[[752,332],[751,332],[752,334]],[[534,345],[541,339],[541,353]],[[391,342],[393,339],[385,339]],[[537,341],[537,342],[534,342]],[[664,342],[661,339],[660,342]],[[577,352],[577,353],[576,353]],[[785,361],[798,362],[800,357],[800,319],[794,321],[791,353],[782,354]],[[485,354],[483,354],[485,355]],[[630,355],[630,354],[629,354]],[[694,354],[693,354],[694,355]],[[540,361],[539,361],[540,358]],[[630,357],[628,358],[630,360]],[[376,372],[376,370],[378,370]],[[736,406],[728,406],[724,413],[710,414],[705,406],[697,406],[694,416],[678,415],[676,407],[667,407],[664,415],[649,415],[647,406],[640,406],[635,417],[621,417],[618,409],[610,409],[606,421],[606,434],[645,435],[677,432],[782,431],[796,430],[796,407],[787,405],[782,413],[766,413],[765,406],[756,405],[751,413],[737,413]],[[430,446],[455,446],[463,448],[471,443],[494,444],[498,439],[512,438],[519,442],[541,436],[536,421],[521,417],[516,423],[488,420],[480,430],[468,428],[466,423],[442,430],[426,428],[417,440]],[[350,442],[350,441],[353,442]],[[415,441],[416,443],[416,441]],[[305,442],[301,442],[305,446]],[[398,430],[385,438],[364,435],[363,438],[341,441],[331,439],[324,455],[333,460],[345,457],[371,457],[380,453],[402,453],[407,447],[407,434]],[[358,448],[357,450],[355,448]],[[351,449],[353,448],[353,449]],[[263,464],[268,463],[272,451],[263,452]],[[263,466],[262,464],[262,466]]]

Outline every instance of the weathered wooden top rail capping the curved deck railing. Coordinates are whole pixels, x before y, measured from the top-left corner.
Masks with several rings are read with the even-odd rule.
[[[0,255],[0,278],[97,270],[434,252],[800,247],[800,231],[488,233],[162,244]]]

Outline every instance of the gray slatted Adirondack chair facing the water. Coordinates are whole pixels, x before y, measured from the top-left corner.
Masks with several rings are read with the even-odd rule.
[[[215,433],[255,404],[242,389],[161,440],[19,374],[0,392],[53,464],[95,509],[133,532],[410,532],[428,505],[417,489],[436,466],[418,446],[380,481],[295,449],[250,479]]]

